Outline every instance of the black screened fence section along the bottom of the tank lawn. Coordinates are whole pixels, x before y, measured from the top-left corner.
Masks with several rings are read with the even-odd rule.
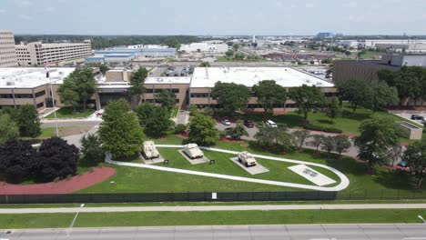
[[[74,204],[143,202],[320,201],[336,199],[336,192],[238,192],[238,193],[134,193],[67,195],[0,195],[0,204]]]

